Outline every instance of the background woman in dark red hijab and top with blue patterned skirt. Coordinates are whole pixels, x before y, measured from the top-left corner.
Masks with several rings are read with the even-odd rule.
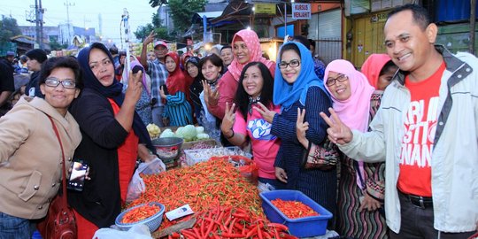
[[[163,122],[165,126],[185,126],[193,123],[189,104],[189,85],[180,68],[180,58],[176,52],[166,54],[165,65],[169,75],[166,79],[167,94],[159,90],[161,98],[166,99]]]

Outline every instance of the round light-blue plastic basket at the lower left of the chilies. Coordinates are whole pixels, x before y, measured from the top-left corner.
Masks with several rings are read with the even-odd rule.
[[[127,230],[137,224],[144,224],[146,226],[148,226],[150,228],[150,232],[154,232],[158,229],[158,227],[161,225],[161,222],[163,221],[163,214],[165,213],[165,205],[163,204],[159,204],[157,202],[151,202],[151,203],[148,203],[149,205],[158,205],[161,209],[159,210],[159,212],[156,212],[156,214],[150,216],[149,218],[147,219],[144,219],[144,220],[140,220],[140,221],[136,221],[134,223],[122,223],[121,220],[123,219],[123,217],[125,216],[125,214],[135,208],[138,208],[140,206],[143,206],[145,204],[139,204],[139,205],[136,205],[134,207],[131,207],[131,208],[128,208],[126,211],[124,212],[121,212],[120,215],[118,215],[118,217],[116,217],[116,220],[114,221],[114,223],[116,224],[117,227],[120,227],[121,230]]]

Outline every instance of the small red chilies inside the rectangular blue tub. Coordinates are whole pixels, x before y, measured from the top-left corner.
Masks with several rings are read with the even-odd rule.
[[[271,200],[277,209],[279,209],[289,219],[299,219],[305,217],[319,216],[319,212],[313,211],[313,209],[299,201],[288,200],[284,201],[281,198]]]

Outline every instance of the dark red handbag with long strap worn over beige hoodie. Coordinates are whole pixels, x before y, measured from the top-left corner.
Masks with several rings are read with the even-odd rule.
[[[76,220],[74,218],[73,209],[68,206],[66,201],[66,169],[65,169],[65,152],[63,144],[58,135],[58,129],[49,116],[51,125],[61,148],[63,158],[62,173],[62,193],[58,194],[50,204],[46,217],[37,224],[38,231],[45,239],[73,239],[77,237]]]

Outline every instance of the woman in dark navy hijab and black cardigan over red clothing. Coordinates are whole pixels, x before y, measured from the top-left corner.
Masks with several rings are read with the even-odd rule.
[[[83,191],[69,191],[78,238],[92,238],[98,227],[110,227],[126,201],[127,185],[135,171],[136,158],[150,161],[156,156],[150,136],[135,105],[141,96],[141,73],[131,74],[126,93],[115,79],[113,59],[104,44],[83,48],[78,61],[85,89],[70,112],[81,127],[83,139],[75,158],[89,163]]]

